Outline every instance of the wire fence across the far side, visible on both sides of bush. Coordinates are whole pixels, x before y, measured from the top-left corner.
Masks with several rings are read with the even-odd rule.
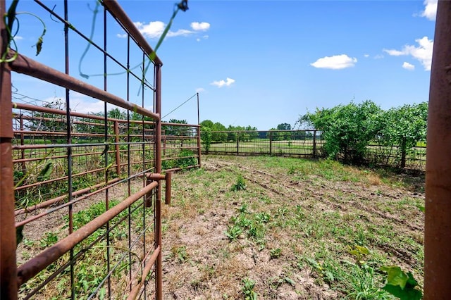
[[[207,147],[203,141],[203,151],[204,154],[319,158],[326,156],[325,143],[319,130],[212,131]],[[374,142],[366,149],[365,161],[370,165],[400,167],[403,160],[406,168],[425,170],[426,146],[415,146],[403,153],[400,146]]]

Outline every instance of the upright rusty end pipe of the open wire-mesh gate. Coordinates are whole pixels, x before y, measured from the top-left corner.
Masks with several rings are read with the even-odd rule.
[[[155,113],[159,115],[156,120],[156,135],[155,135],[155,172],[161,173],[161,65],[155,65]],[[161,244],[161,185],[156,188],[155,200],[155,249]],[[155,297],[157,300],[163,299],[163,272],[161,252],[156,258],[155,262]]]

